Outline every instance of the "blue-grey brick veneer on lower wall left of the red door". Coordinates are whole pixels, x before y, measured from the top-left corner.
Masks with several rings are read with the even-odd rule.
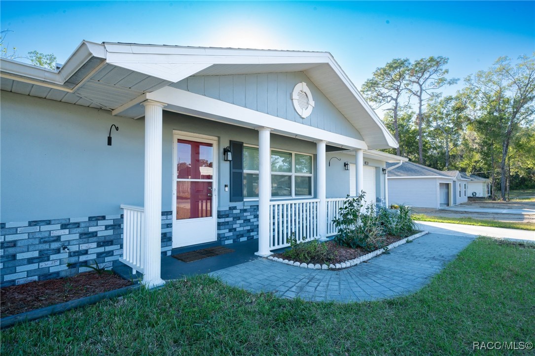
[[[0,223],[0,287],[120,264],[122,224],[123,215]],[[162,212],[162,256],[171,248],[172,212]]]

